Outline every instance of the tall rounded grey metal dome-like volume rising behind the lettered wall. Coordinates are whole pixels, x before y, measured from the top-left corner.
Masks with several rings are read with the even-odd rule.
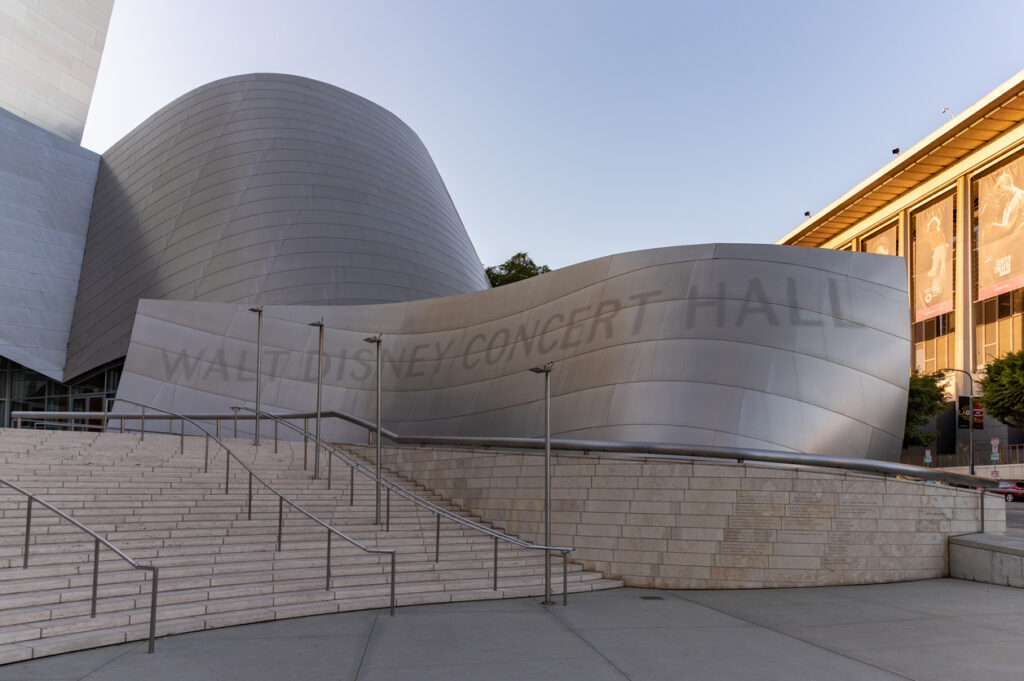
[[[140,298],[339,305],[487,287],[394,115],[305,78],[228,78],[103,154],[66,373],[124,355]]]

